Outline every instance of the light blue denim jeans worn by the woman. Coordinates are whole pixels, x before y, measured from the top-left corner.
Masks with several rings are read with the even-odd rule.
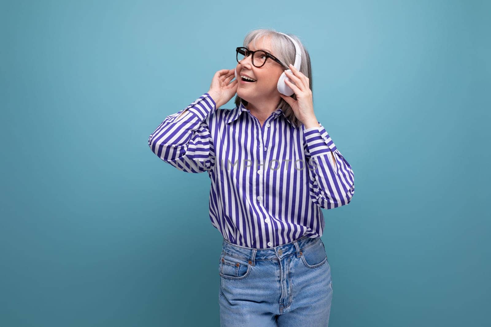
[[[332,279],[322,240],[271,249],[225,239],[218,265],[220,326],[327,326]]]

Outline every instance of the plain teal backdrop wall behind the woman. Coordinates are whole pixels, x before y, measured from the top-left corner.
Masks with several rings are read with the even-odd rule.
[[[147,141],[271,27],[309,50],[316,117],[355,172],[324,210],[329,326],[489,326],[490,10],[2,2],[0,325],[219,325],[209,178]]]

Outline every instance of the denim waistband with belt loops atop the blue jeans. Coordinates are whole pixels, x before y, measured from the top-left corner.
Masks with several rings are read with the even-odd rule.
[[[301,250],[316,242],[319,242],[320,240],[320,237],[311,238],[308,236],[302,236],[298,240],[283,245],[278,245],[270,249],[255,249],[232,244],[223,239],[222,250],[228,255],[254,262],[257,260],[281,259],[293,253],[297,253],[297,256],[300,256]]]

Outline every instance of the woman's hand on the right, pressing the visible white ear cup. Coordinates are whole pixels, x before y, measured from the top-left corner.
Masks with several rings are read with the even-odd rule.
[[[285,71],[286,76],[293,80],[295,84],[290,82],[285,78],[286,85],[288,85],[295,95],[297,100],[287,97],[284,94],[279,94],[280,97],[285,100],[293,109],[295,116],[298,120],[306,125],[307,122],[317,124],[317,118],[314,114],[314,104],[312,101],[312,91],[309,86],[309,79],[307,76],[303,75],[297,68],[290,64],[290,69],[292,73]]]

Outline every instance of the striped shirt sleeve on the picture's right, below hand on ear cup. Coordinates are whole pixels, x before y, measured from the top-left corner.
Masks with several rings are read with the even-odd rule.
[[[324,126],[319,125],[303,131],[310,198],[320,207],[332,209],[350,203],[355,194],[355,175]]]

